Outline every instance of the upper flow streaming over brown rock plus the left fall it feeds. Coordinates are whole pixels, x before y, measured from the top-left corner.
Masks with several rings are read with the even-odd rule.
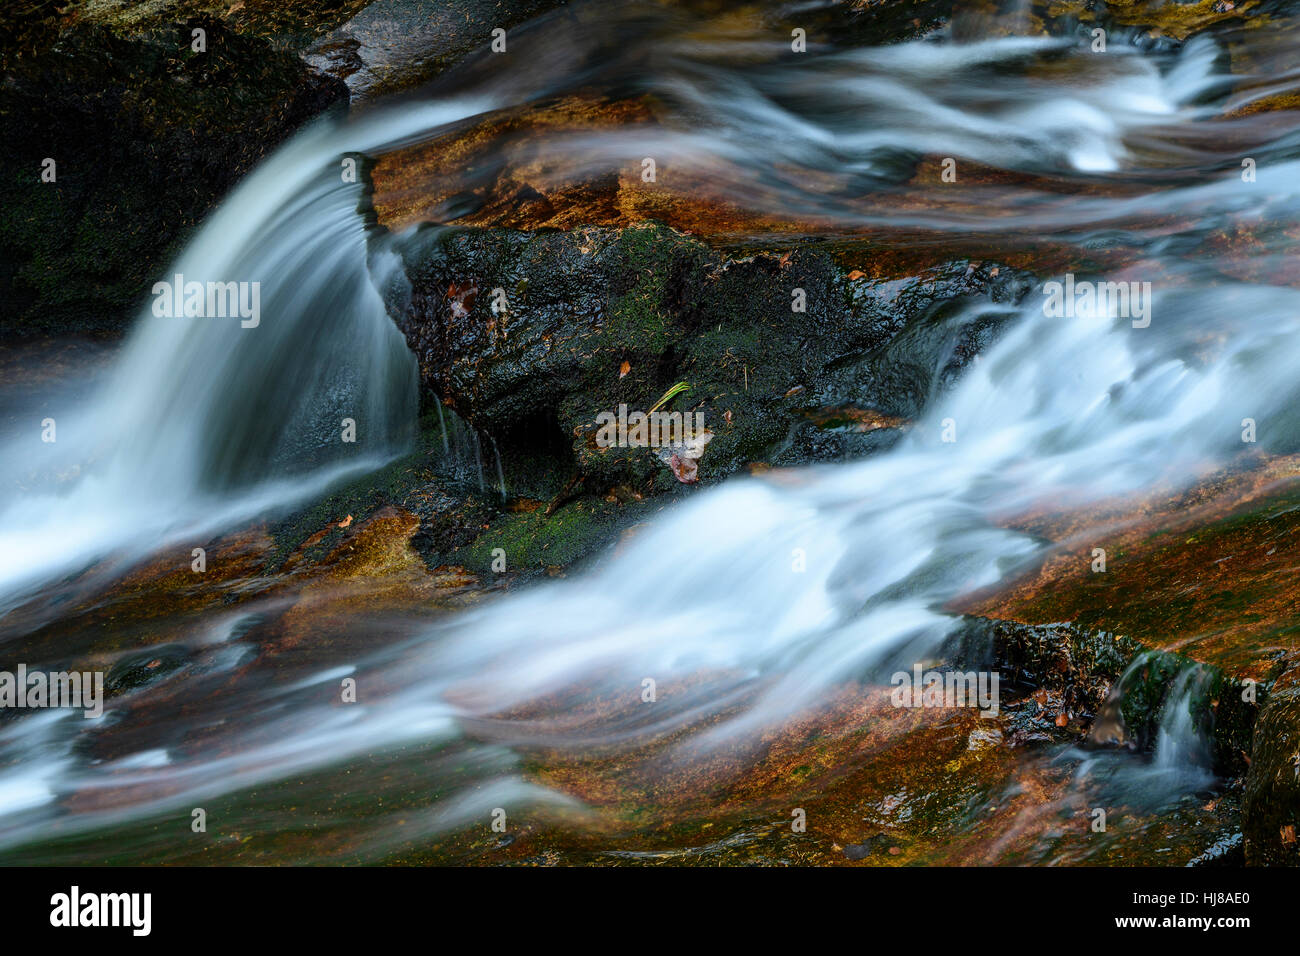
[[[0,611],[4,594],[61,570],[133,541],[153,548],[160,536],[194,537],[237,514],[311,493],[338,468],[373,467],[399,449],[412,425],[413,364],[367,276],[360,186],[343,181],[341,160],[618,75],[620,57],[586,66],[569,48],[573,42],[564,38],[530,56],[532,77],[491,77],[472,96],[407,103],[341,126],[317,124],[250,176],[161,278],[259,282],[264,319],[242,328],[237,319],[160,317],[148,300],[116,373],[87,408],[60,423],[58,440],[43,442],[34,427],[5,450],[6,486],[18,477],[30,486],[35,472],[51,490],[0,515]],[[982,199],[978,191],[974,202],[984,208],[974,215],[887,209],[883,219],[850,202],[900,150],[1070,173],[1118,169],[1141,151],[1154,168],[1176,172],[1188,159],[1182,140],[1216,112],[1199,100],[1227,82],[1214,72],[1208,39],[1164,70],[1123,47],[1098,61],[1053,39],[916,42],[845,51],[810,66],[757,69],[745,68],[744,57],[734,68],[719,65],[729,55],[725,46],[662,36],[646,43],[656,51],[656,72],[641,82],[688,122],[651,134],[566,134],[556,146],[563,161],[552,164],[556,177],[634,165],[649,151],[716,181],[746,207],[806,211],[846,226],[961,232],[978,220],[982,229],[1053,232],[1066,221],[1092,225],[1156,212],[1260,215],[1269,203],[1270,216],[1279,204],[1294,212],[1290,190],[1245,190],[1231,177],[1166,190],[1158,199],[1071,198],[1061,208],[1026,190],[1034,208],[1023,215],[1004,215],[1006,194]],[[1044,57],[1091,82],[1062,75],[1060,64],[1057,73],[1035,77],[1030,68]],[[1296,81],[1287,75],[1242,99],[1278,92],[1287,82]],[[701,126],[710,131],[692,131]],[[1270,131],[1275,142],[1261,160],[1294,138]],[[1279,159],[1269,176],[1280,185],[1300,174],[1300,163]],[[842,183],[809,191],[790,177],[772,179],[775,168],[833,173]],[[337,440],[343,418],[358,421],[356,445]],[[78,477],[52,480],[69,473]],[[304,483],[312,473],[318,480]]]

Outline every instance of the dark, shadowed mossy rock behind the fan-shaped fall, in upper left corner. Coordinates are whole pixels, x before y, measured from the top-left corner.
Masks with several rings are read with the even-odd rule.
[[[121,332],[212,204],[347,92],[211,17],[46,42],[0,83],[0,337]]]

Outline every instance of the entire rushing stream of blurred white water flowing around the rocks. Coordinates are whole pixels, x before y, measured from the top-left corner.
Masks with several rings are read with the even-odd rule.
[[[597,826],[582,800],[530,773],[529,754],[616,761],[649,748],[666,777],[742,754],[846,683],[883,684],[932,658],[956,624],[948,601],[1040,553],[1000,527],[1008,515],[1190,481],[1240,451],[1243,419],[1260,423],[1269,449],[1300,440],[1300,293],[1252,278],[1291,254],[1300,203],[1300,122],[1245,109],[1300,85],[1283,38],[1223,40],[1249,53],[1252,79],[1227,74],[1226,47],[1204,36],[1143,49],[1117,36],[1104,56],[1062,33],[774,60],[755,36],[667,14],[638,21],[637,39],[632,23],[582,36],[567,23],[520,33],[526,79],[472,64],[285,144],[168,274],[260,281],[260,324],[146,306],[101,390],[58,416],[57,442],[9,440],[6,661],[65,662],[44,644],[20,650],[57,620],[40,596],[60,581],[107,587],[410,446],[416,363],[380,294],[387,245],[402,237],[368,241],[361,186],[342,182],[339,164],[529,99],[594,87],[667,104],[654,133],[554,134],[558,181],[654,155],[744,208],[794,209],[828,233],[1015,233],[1131,250],[1127,267],[1092,278],[1149,282],[1148,315],[1096,303],[1050,315],[1041,290],[1020,306],[968,306],[1009,319],[1008,330],[956,388],[940,389],[935,369],[928,410],[888,453],[731,480],[569,580],[455,614],[358,622],[365,640],[291,680],[226,683],[252,654],[240,637],[281,610],[273,598],[214,611],[191,636],[200,665],[169,679],[185,689],[164,680],[139,692],[162,693],[176,713],[120,730],[129,747],[96,752],[98,723],[61,711],[0,723],[0,848],[57,834],[77,858],[79,838],[110,830],[124,852],[183,856],[157,827],[178,819],[187,830],[194,806],[234,814],[222,825],[231,832],[311,831],[309,849],[282,845],[304,860],[386,858],[486,823],[497,808]],[[952,199],[935,186],[902,203],[893,170],[913,153],[1004,170],[1018,185]],[[1245,278],[1202,245],[1239,221],[1262,237]],[[337,441],[344,416],[355,445]],[[792,570],[796,551],[806,571]],[[347,676],[359,702],[339,706]],[[646,679],[660,688],[653,705],[641,698]],[[1196,763],[1202,745],[1184,697],[1174,695],[1150,769],[1165,796],[1208,783],[1164,773]],[[109,726],[129,730],[114,713],[124,706],[109,704]]]

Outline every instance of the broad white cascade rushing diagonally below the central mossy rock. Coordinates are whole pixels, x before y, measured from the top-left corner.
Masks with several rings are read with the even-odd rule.
[[[1251,320],[1192,360],[1182,346],[1225,308]],[[733,740],[937,648],[954,623],[939,606],[1037,549],[998,514],[1190,476],[1240,447],[1245,411],[1295,434],[1297,310],[1286,289],[1187,290],[1156,302],[1164,328],[1132,329],[1050,319],[1035,299],[889,454],[701,496],[599,572],[441,628],[428,676],[488,717],[566,687],[630,693],[718,670],[722,684],[694,693],[744,688],[742,715],[710,731]]]

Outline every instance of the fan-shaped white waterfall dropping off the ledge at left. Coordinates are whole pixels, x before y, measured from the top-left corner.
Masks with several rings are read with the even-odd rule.
[[[317,124],[212,213],[162,280],[257,284],[256,325],[156,315],[151,297],[117,368],[56,419],[55,441],[32,423],[4,449],[4,486],[43,490],[0,512],[0,615],[55,575],[203,544],[407,446],[415,356],[367,269],[361,186],[342,161],[486,105]]]

